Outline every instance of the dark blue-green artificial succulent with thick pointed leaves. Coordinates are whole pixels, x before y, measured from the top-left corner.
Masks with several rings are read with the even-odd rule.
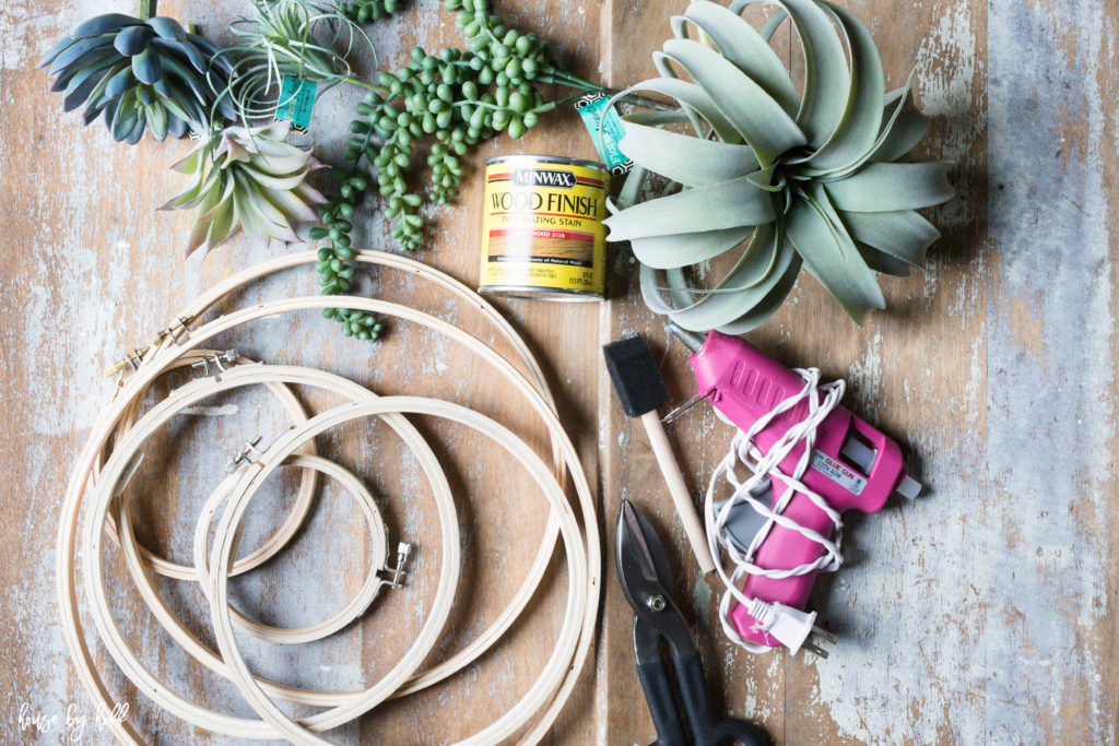
[[[114,140],[135,144],[144,131],[181,138],[234,117],[229,98],[215,93],[231,74],[217,53],[171,18],[107,13],[78,26],[43,66],[55,76],[51,89],[64,92],[66,111],[85,105],[86,124],[102,117]]]

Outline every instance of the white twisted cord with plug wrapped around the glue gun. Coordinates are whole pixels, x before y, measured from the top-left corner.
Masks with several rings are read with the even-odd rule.
[[[816,444],[816,429],[843,398],[846,385],[843,380],[831,381],[820,385],[820,371],[817,368],[796,368],[793,370],[805,381],[803,388],[789,398],[780,402],[767,415],[759,418],[749,431],[739,431],[731,441],[731,450],[715,468],[711,482],[707,485],[707,494],[704,500],[704,520],[707,528],[707,542],[711,547],[712,556],[716,558],[716,570],[720,578],[726,586],[718,605],[718,616],[723,625],[723,632],[735,644],[749,650],[752,653],[764,653],[772,650],[765,645],[758,644],[744,639],[730,621],[731,604],[737,601],[746,606],[750,614],[756,620],[759,630],[764,630],[780,640],[783,644],[796,652],[801,643],[808,638],[816,618],[815,613],[805,613],[791,608],[783,604],[770,604],[759,598],[747,596],[742,592],[742,580],[745,575],[762,575],[771,578],[786,578],[794,575],[806,575],[808,573],[824,572],[830,573],[839,569],[843,564],[843,555],[839,547],[843,541],[843,519],[839,513],[828,504],[818,492],[814,491],[801,481],[812,457],[812,448]],[[754,444],[753,438],[758,433],[784,412],[798,406],[801,402],[808,402],[808,416],[790,427],[784,435],[778,440],[768,453]],[[718,410],[715,410],[718,413]],[[721,415],[722,416],[722,415]],[[724,417],[725,419],[725,417]],[[730,421],[727,421],[730,422]],[[733,424],[733,423],[732,423]],[[781,471],[781,462],[797,446],[803,443],[803,452],[797,461],[797,466],[791,474]],[[741,480],[735,471],[739,463],[750,470],[747,479]],[[726,480],[734,492],[728,500],[716,511],[715,492],[722,480]],[[771,481],[773,490],[772,508],[758,500],[752,491],[762,485],[765,480]],[[783,484],[783,490],[778,493],[779,484]],[[822,510],[835,525],[835,539],[821,536],[810,528],[803,527],[797,521],[783,516],[784,509],[797,493],[806,495],[812,503]],[[728,536],[726,522],[737,506],[750,506],[762,518],[764,525],[758,530],[750,546],[744,550]],[[765,540],[773,526],[799,531],[802,536],[816,541],[824,548],[815,561],[799,565],[791,569],[767,569],[754,564],[754,556],[759,547]],[[722,549],[730,559],[733,569],[727,572],[720,553]]]

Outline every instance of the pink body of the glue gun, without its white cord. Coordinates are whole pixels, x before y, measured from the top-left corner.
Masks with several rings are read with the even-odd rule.
[[[706,340],[700,340],[675,324],[670,324],[667,329],[693,351],[690,363],[698,389],[696,399],[708,399],[741,431],[749,431],[778,404],[805,388],[805,380],[797,374],[778,365],[737,337],[711,331]],[[822,395],[814,391],[812,396]],[[762,453],[768,453],[790,427],[808,417],[808,409],[806,398],[791,409],[775,416],[754,435],[753,444]],[[801,441],[779,463],[781,472],[792,474],[803,453],[805,443]],[[760,489],[755,488],[752,491],[755,499],[770,508],[773,494],[781,495],[786,491],[786,484],[779,476],[772,476],[772,484],[763,482]],[[873,513],[885,504],[893,492],[915,498],[921,490],[921,485],[909,476],[897,444],[841,406],[831,409],[818,424],[814,452],[801,482],[822,497],[837,512],[854,508],[865,513]],[[781,514],[822,537],[831,538],[835,532],[835,525],[828,514],[803,493],[793,494]],[[750,546],[765,522],[764,517],[753,508],[740,504],[736,506],[735,513],[726,522],[724,530],[735,545],[744,549]],[[818,541],[794,529],[772,525],[756,548],[753,564],[764,569],[788,570],[811,564],[824,554],[825,548]],[[816,572],[781,578],[749,574],[741,588],[749,597],[803,610],[815,578]],[[759,608],[764,606],[767,604]],[[801,615],[809,626],[815,616],[815,613]],[[777,648],[782,644],[782,641],[767,631],[765,627],[771,627],[771,624],[760,623],[746,606],[737,601],[732,603],[728,618],[746,642],[763,648]],[[788,640],[783,643],[793,652],[801,644],[814,651],[820,650],[803,642],[805,639],[807,632],[796,644],[790,644]]]

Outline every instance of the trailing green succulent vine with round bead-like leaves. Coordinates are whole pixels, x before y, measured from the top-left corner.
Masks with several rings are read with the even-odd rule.
[[[360,21],[398,4],[351,2],[339,8]],[[322,226],[311,230],[311,238],[325,242],[317,265],[323,294],[341,294],[351,286],[354,267],[347,261],[352,257],[352,217],[374,185],[385,217],[393,220],[392,238],[403,251],[415,251],[424,240],[421,207],[455,199],[464,173],[460,159],[472,147],[502,132],[520,138],[543,115],[586,93],[617,93],[565,70],[547,41],[509,28],[491,12],[488,0],[444,0],[443,7],[455,12],[467,48],[434,54],[413,48],[408,63],[377,75],[357,105],[344,153],[347,167],[333,170],[339,192],[320,208]],[[540,85],[573,93],[548,98]],[[424,141],[431,141],[425,163],[419,155]],[[423,164],[431,176],[421,191],[415,171]],[[363,170],[366,166],[370,172]],[[361,311],[327,309],[323,314],[339,321],[346,336],[375,339],[380,329]]]

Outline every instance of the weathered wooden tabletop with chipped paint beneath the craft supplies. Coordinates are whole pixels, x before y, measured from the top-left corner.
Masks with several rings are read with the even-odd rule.
[[[112,391],[106,361],[231,272],[285,251],[244,238],[184,258],[187,215],[157,214],[180,179],[167,169],[186,143],[115,145],[98,122],[82,129],[48,94],[35,64],[65,30],[124,2],[7,0],[0,11],[0,267],[4,322],[0,459],[0,691],[6,743],[64,743],[68,708],[88,714],[57,622],[54,540],[60,495],[98,407]],[[408,47],[459,44],[450,13],[414,2],[374,38],[395,65]],[[762,721],[778,743],[1115,743],[1119,730],[1116,613],[1116,282],[1119,211],[1116,105],[1119,3],[1115,0],[849,0],[877,39],[892,86],[911,66],[934,125],[922,151],[959,163],[959,197],[932,210],[944,237],[929,270],[884,280],[890,308],[850,323],[815,281],[750,339],[788,363],[818,365],[849,381],[848,404],[902,443],[929,493],[853,518],[848,564],[817,584],[812,606],[839,636],[831,658],[754,657],[721,639],[718,593],[697,580],[639,428],[621,418],[600,346],[643,332],[660,352],[677,399],[689,394],[685,356],[668,347],[633,286],[627,251],[611,262],[613,300],[602,305],[500,301],[553,380],[561,410],[600,489],[606,557],[619,500],[629,497],[670,533],[677,592],[699,635],[721,707]],[[161,12],[224,37],[247,3],[161,3]],[[624,85],[651,74],[649,53],[686,0],[498,0],[524,29],[553,39],[584,76]],[[779,46],[784,44],[779,41]],[[336,158],[354,96],[328,94],[312,140]],[[508,152],[592,157],[571,113],[520,142],[498,139],[471,157],[459,205],[434,217],[419,257],[476,283],[478,167]],[[391,246],[385,220],[366,206],[365,244]],[[468,329],[469,313],[414,281],[376,272],[367,292],[407,298]],[[312,292],[309,272],[286,273],[243,301]],[[530,418],[467,356],[407,324],[384,343],[338,336],[314,315],[255,324],[231,341],[252,357],[323,366],[379,393],[427,393],[467,402],[539,442]],[[322,404],[308,395],[311,404]],[[180,417],[156,447],[167,469],[145,466],[143,532],[186,558],[194,510],[244,437],[283,426],[275,406],[245,394]],[[457,487],[467,560],[453,623],[434,654],[461,646],[492,618],[527,568],[542,502],[518,474],[454,427],[422,423]],[[369,425],[326,444],[375,488],[394,540],[420,547],[415,576],[357,627],[307,650],[251,646],[252,664],[289,681],[356,688],[398,655],[419,627],[439,563],[434,512],[415,465]],[[731,433],[696,408],[675,425],[681,463],[698,494]],[[358,437],[358,436],[363,437]],[[364,436],[368,437],[364,437]],[[291,482],[254,511],[260,536],[281,514]],[[281,624],[337,608],[364,573],[352,502],[325,491],[310,527],[282,561],[235,586],[238,603]],[[272,521],[270,523],[270,521]],[[557,724],[554,740],[643,744],[653,735],[632,668],[629,613],[608,563],[596,659]],[[332,734],[344,743],[444,743],[492,721],[524,692],[551,649],[563,572],[540,593],[508,642],[446,686],[389,703]],[[177,691],[226,711],[250,711],[154,630],[128,585],[117,618],[144,660]],[[191,624],[199,596],[164,584]],[[98,649],[100,650],[100,649]],[[153,742],[227,743],[154,710],[121,680],[103,651],[110,687],[129,701]],[[433,659],[434,660],[434,659]],[[28,717],[41,718],[29,724]],[[40,727],[41,726],[41,727]],[[84,743],[104,743],[87,731]]]

